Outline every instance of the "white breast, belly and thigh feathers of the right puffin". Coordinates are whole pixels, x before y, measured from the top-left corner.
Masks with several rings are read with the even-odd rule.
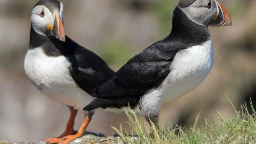
[[[177,99],[195,89],[210,73],[213,61],[211,40],[179,51],[160,87],[147,91],[141,98],[143,113],[158,113],[165,99]]]

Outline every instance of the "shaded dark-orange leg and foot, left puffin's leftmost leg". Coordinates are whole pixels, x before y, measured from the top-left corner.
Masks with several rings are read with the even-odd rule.
[[[76,114],[77,114],[77,110],[70,108],[70,117],[68,119],[65,131],[57,138],[47,138],[44,141],[47,143],[58,143],[62,140],[61,138],[67,135],[73,134]]]

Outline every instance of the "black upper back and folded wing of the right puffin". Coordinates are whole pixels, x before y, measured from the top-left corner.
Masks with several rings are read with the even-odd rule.
[[[160,40],[130,59],[113,78],[91,92],[95,97],[140,95],[159,87],[182,44]]]

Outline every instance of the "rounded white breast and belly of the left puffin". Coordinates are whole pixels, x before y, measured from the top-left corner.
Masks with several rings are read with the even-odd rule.
[[[48,57],[38,47],[28,50],[24,68],[31,82],[49,98],[81,109],[94,98],[77,86],[64,56]]]

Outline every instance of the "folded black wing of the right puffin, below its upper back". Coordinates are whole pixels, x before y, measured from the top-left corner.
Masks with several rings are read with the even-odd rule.
[[[130,62],[122,66],[114,77],[96,90],[96,97],[115,97],[142,94],[158,87],[169,74],[172,60],[154,62]]]

